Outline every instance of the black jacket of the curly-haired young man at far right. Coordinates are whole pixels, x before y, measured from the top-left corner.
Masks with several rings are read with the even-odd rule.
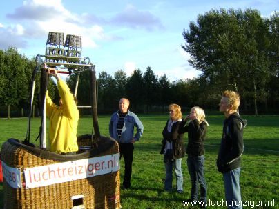
[[[228,172],[240,167],[240,156],[244,150],[243,128],[246,126],[238,113],[224,120],[222,141],[217,158],[219,172]]]

